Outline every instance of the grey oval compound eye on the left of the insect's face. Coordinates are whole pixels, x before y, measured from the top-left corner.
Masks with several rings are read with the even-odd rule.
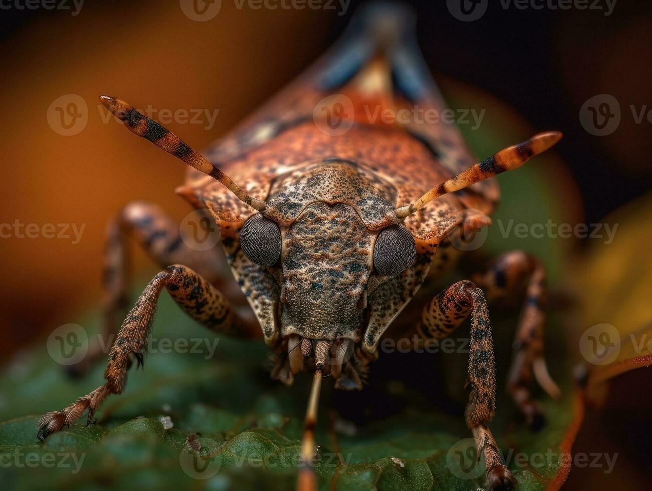
[[[281,231],[272,220],[257,213],[240,230],[240,248],[256,264],[271,266],[281,255]]]

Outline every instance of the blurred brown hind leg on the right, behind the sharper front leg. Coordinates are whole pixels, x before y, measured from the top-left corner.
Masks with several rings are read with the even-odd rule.
[[[528,389],[533,375],[552,397],[561,392],[548,374],[543,355],[543,333],[546,314],[546,272],[537,258],[522,250],[512,250],[499,256],[485,272],[473,276],[475,283],[486,291],[490,302],[506,301],[526,291],[516,336],[514,358],[507,380],[507,390],[533,428],[544,423],[542,409]],[[524,287],[524,283],[526,286]]]

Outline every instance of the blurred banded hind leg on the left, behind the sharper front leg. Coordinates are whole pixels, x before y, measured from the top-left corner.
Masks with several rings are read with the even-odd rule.
[[[105,346],[115,337],[119,319],[124,318],[128,307],[129,239],[134,239],[142,246],[160,267],[174,263],[187,264],[209,280],[214,280],[219,271],[219,260],[215,251],[194,250],[188,247],[181,240],[179,225],[153,203],[129,203],[110,222],[106,232],[101,321]],[[76,365],[68,366],[67,370],[76,376],[81,375],[103,355],[100,343],[93,344],[89,346],[85,359]]]

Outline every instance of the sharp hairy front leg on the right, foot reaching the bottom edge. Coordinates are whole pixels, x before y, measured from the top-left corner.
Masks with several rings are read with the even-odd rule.
[[[471,340],[467,384],[471,386],[471,393],[464,417],[473,433],[478,455],[484,454],[487,489],[512,489],[516,481],[503,464],[496,440],[486,426],[496,409],[496,368],[489,313],[482,290],[464,280],[441,291],[424,307],[417,333],[424,340],[444,338],[469,314]]]

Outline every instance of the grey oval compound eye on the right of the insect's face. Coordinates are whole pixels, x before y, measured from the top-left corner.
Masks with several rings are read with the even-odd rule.
[[[374,246],[374,267],[379,275],[398,276],[413,265],[417,257],[414,237],[402,225],[383,228]]]

